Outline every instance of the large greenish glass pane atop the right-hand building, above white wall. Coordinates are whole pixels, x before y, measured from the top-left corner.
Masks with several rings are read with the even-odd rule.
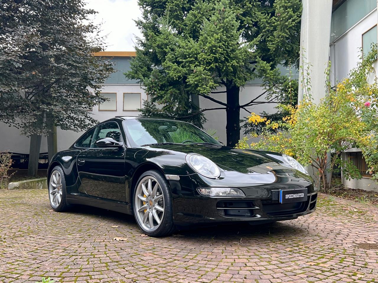
[[[331,42],[377,7],[376,0],[346,0],[332,13]]]

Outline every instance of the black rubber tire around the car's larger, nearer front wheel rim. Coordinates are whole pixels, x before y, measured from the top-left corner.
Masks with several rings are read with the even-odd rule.
[[[163,217],[161,218],[160,225],[158,225],[158,228],[156,228],[155,231],[147,231],[144,229],[142,223],[140,223],[140,220],[138,218],[138,211],[136,210],[136,203],[135,203],[135,198],[136,198],[136,193],[139,184],[143,179],[146,177],[153,177],[155,178],[160,186],[161,193],[164,195],[164,214]],[[168,181],[164,177],[161,172],[157,170],[149,170],[147,172],[144,172],[136,182],[136,186],[134,188],[134,193],[133,193],[133,211],[134,211],[134,216],[136,223],[139,226],[139,229],[151,237],[165,237],[168,235],[171,235],[175,231],[175,225],[173,223],[173,208],[172,208],[172,195],[171,195],[171,190]],[[146,212],[145,212],[146,213]]]

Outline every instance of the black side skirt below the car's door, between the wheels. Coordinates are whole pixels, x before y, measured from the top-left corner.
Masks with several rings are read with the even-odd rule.
[[[90,195],[71,193],[70,195],[67,195],[67,202],[73,205],[89,205],[129,215],[134,214],[130,204],[127,202],[104,200],[102,198],[92,197]]]

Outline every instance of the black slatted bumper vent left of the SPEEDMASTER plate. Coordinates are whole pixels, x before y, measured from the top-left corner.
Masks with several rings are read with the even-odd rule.
[[[252,201],[219,201],[218,213],[225,217],[255,217],[254,211],[260,209]]]

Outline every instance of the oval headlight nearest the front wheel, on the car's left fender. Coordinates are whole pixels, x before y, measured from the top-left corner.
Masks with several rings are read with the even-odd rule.
[[[205,177],[218,178],[220,175],[219,167],[209,158],[200,154],[189,153],[186,155],[185,159],[194,171]]]

